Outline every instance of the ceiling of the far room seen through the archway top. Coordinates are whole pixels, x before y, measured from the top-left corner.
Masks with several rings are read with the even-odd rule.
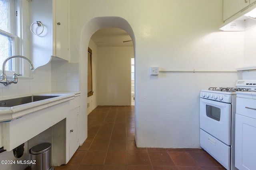
[[[98,47],[133,46],[132,41],[123,42],[131,40],[131,37],[126,31],[120,28],[102,28],[96,31],[91,39]]]

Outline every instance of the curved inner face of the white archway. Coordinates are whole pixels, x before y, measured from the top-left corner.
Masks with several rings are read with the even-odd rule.
[[[126,31],[128,33],[128,35],[130,36],[130,39],[128,40],[132,40],[133,43],[133,49],[134,49],[134,53],[133,56],[136,59],[136,41],[135,41],[135,35],[134,32],[132,30],[131,25],[128,23],[127,20],[125,20],[124,18],[121,17],[117,17],[117,16],[106,16],[106,17],[96,17],[96,18],[92,18],[91,20],[89,20],[88,22],[86,22],[86,24],[84,25],[82,31],[81,31],[81,41],[80,41],[80,47],[83,47],[81,49],[80,52],[80,57],[79,57],[79,62],[80,62],[80,74],[79,74],[79,88],[80,88],[80,92],[81,94],[86,94],[88,89],[87,89],[87,78],[84,78],[84,74],[86,73],[88,70],[87,68],[87,64],[88,64],[88,58],[87,58],[87,54],[88,54],[88,50],[87,48],[89,47],[89,41],[92,37],[92,35],[98,31],[99,29],[102,28],[106,28],[106,27],[116,27],[116,28],[120,28],[124,31]],[[125,40],[125,41],[128,41]],[[129,43],[129,42],[128,42]],[[93,50],[93,49],[92,49]],[[95,55],[95,53],[94,53]],[[94,56],[92,56],[92,61],[94,61]],[[130,63],[130,59],[129,59],[129,63]],[[135,64],[136,64],[136,60],[135,60]],[[131,75],[130,72],[130,64],[129,65],[129,76]],[[95,68],[92,64],[92,69]],[[135,69],[136,70],[136,69]],[[94,74],[92,73],[92,78]],[[131,80],[131,79],[130,79]],[[135,93],[136,93],[136,73],[135,73]],[[128,84],[128,86],[131,88],[131,83]],[[98,96],[97,94],[97,89],[93,88],[94,90],[94,95],[92,96]],[[130,97],[128,98],[128,100],[131,102],[131,93],[129,95]],[[81,95],[80,96],[80,111],[81,112],[85,112],[88,113],[87,108],[86,108],[86,104],[84,104],[84,102],[88,102],[88,97],[87,95]],[[136,109],[136,94],[135,94],[135,139],[136,139],[136,127],[137,127],[137,121],[136,121],[136,115],[137,115],[137,109]],[[84,123],[84,128],[86,128],[88,130],[87,127],[87,120],[88,120],[88,116],[87,114],[82,114],[80,116],[80,120],[82,121],[82,123]],[[86,130],[86,131],[87,131]],[[88,133],[81,133],[80,134],[80,139],[81,141],[83,141],[83,139],[85,140],[88,137]]]

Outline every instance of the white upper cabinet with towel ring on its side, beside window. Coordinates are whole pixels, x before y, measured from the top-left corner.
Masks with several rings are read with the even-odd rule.
[[[45,65],[52,57],[70,60],[69,3],[70,0],[33,0],[30,4],[30,55],[34,67]],[[40,21],[44,27],[36,22]]]

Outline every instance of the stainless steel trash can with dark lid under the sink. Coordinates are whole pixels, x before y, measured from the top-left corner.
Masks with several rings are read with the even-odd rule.
[[[31,160],[36,160],[36,164],[31,164],[31,170],[53,170],[51,168],[52,151],[50,143],[41,143],[30,149]]]

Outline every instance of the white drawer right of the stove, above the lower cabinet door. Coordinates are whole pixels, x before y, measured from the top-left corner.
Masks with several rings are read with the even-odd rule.
[[[236,98],[236,113],[256,119],[256,100]]]

